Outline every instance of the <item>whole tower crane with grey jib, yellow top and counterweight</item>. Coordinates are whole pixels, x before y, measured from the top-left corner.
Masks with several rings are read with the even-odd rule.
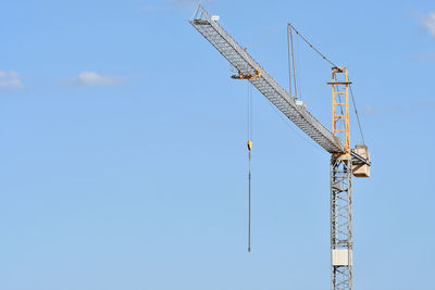
[[[217,22],[198,7],[190,24],[237,70],[236,79],[256,87],[296,126],[331,153],[331,289],[352,289],[352,175],[370,177],[365,144],[350,148],[349,86],[346,67],[332,67],[332,118],[330,131],[296,97],[290,96]],[[249,147],[249,144],[248,144]],[[249,148],[250,150],[250,148]]]

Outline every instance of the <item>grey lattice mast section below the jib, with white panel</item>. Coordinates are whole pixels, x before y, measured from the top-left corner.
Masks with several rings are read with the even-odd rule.
[[[352,289],[351,156],[331,160],[331,289]]]

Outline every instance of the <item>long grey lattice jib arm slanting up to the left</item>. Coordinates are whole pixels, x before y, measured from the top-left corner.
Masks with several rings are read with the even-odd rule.
[[[201,5],[189,22],[240,74],[256,75],[258,67],[261,72],[260,77],[249,81],[311,139],[330,153],[346,152],[339,139],[303,106],[296,104],[296,99],[281,87]]]

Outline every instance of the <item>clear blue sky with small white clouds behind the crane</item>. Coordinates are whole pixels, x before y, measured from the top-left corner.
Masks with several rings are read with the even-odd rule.
[[[330,156],[188,23],[195,1],[3,1],[0,289],[327,289]],[[208,1],[287,87],[286,23],[347,66],[373,167],[356,289],[434,289],[432,1]],[[297,45],[331,127],[331,67]],[[352,144],[360,142],[355,115]]]

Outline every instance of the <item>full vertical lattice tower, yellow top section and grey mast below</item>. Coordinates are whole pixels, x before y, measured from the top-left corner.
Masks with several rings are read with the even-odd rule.
[[[349,138],[349,77],[334,67],[333,134],[345,148],[331,157],[331,289],[352,289],[352,160]]]

